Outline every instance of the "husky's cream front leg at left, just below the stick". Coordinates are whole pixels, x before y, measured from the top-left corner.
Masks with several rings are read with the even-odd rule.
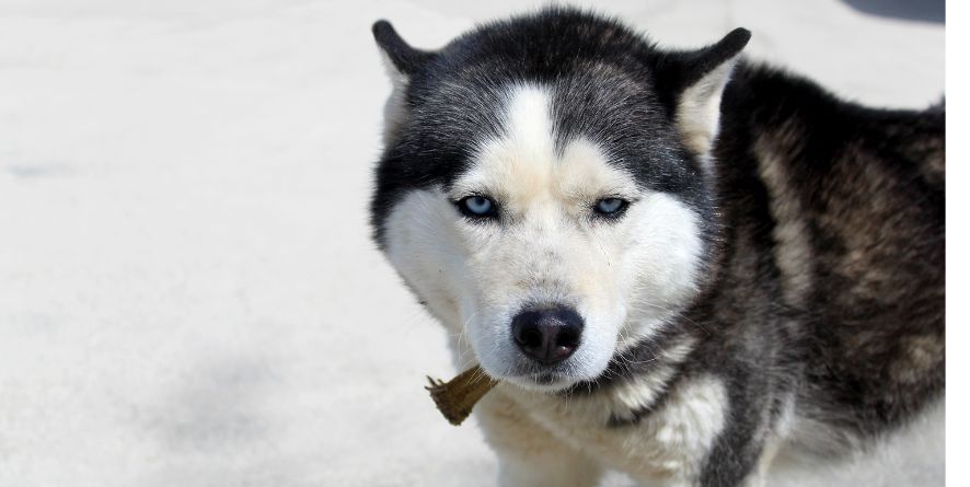
[[[602,467],[552,436],[520,406],[493,391],[475,407],[486,441],[498,455],[503,487],[594,486]]]

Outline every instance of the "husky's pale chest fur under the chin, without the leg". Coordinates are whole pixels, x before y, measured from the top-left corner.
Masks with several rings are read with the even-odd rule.
[[[654,374],[569,398],[501,385],[489,403],[523,419],[517,421],[522,431],[506,434],[541,429],[541,434],[635,478],[690,476],[724,428],[727,392],[719,379],[698,376],[674,385],[657,405],[665,379]]]

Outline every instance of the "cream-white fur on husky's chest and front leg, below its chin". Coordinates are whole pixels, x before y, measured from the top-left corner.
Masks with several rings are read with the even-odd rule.
[[[639,424],[604,427],[604,413],[616,403],[615,395],[635,389],[569,402],[505,385],[489,393],[476,411],[489,443],[500,459],[509,459],[503,464],[541,460],[533,468],[504,466],[505,485],[533,485],[531,479],[543,476],[558,478],[557,469],[582,480],[564,485],[594,485],[597,478],[578,475],[570,466],[592,468],[597,475],[603,468],[617,468],[646,485],[695,485],[705,456],[725,427],[724,383],[713,375],[678,383],[665,405]],[[654,392],[653,386],[642,391]]]

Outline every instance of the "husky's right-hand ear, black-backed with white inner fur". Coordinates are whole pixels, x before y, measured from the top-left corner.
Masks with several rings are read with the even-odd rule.
[[[751,32],[736,28],[717,44],[692,51],[665,53],[654,69],[658,93],[671,105],[688,149],[706,155],[720,120],[720,96]]]

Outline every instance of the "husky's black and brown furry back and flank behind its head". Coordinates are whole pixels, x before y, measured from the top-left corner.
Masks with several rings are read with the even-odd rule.
[[[798,323],[796,432],[828,448],[901,425],[945,381],[943,107],[864,108],[741,66],[721,112],[726,227],[761,225]]]

